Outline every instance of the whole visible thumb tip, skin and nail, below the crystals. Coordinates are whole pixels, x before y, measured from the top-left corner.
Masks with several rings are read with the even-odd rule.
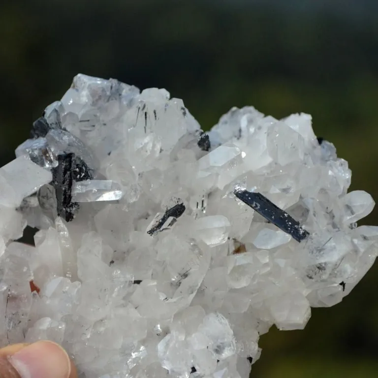
[[[39,341],[0,349],[0,378],[76,378],[76,373],[62,347]]]

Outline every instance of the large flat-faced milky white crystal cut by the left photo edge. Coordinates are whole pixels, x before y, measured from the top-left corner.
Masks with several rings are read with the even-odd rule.
[[[20,156],[0,168],[0,205],[18,207],[25,197],[51,180],[50,171]]]

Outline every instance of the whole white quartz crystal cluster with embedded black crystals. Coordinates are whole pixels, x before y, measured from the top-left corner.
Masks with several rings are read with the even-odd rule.
[[[247,378],[372,266],[373,207],[311,116],[203,132],[166,90],[77,75],[0,168],[0,345],[50,339],[82,378]],[[38,231],[34,246],[17,242]]]

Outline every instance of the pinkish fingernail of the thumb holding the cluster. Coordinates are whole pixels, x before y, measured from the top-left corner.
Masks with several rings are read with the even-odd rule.
[[[21,378],[68,378],[71,363],[58,344],[39,341],[9,357]]]

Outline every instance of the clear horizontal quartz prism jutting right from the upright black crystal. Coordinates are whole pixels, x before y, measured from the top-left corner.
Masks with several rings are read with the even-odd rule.
[[[120,184],[111,180],[87,180],[73,184],[72,200],[74,202],[117,201],[124,192]]]

